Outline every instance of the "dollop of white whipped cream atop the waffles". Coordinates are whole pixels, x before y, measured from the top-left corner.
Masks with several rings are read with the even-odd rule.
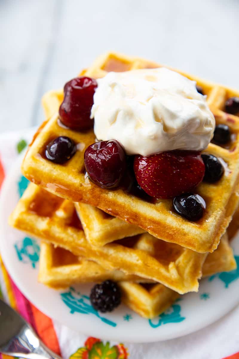
[[[118,140],[127,154],[143,156],[209,144],[215,118],[195,81],[161,67],[110,72],[97,83],[91,118],[98,140]]]

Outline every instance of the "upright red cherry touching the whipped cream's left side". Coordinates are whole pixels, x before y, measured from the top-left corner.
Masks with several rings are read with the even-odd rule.
[[[90,113],[96,87],[96,80],[90,77],[77,77],[64,85],[64,99],[59,108],[63,125],[79,131],[93,127]]]

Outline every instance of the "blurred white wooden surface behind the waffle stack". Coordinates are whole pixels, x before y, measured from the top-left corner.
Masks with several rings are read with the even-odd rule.
[[[239,89],[238,0],[0,0],[0,131],[43,121],[40,98],[107,50]]]

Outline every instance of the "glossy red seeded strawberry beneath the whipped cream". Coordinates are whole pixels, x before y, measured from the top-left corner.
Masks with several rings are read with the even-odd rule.
[[[140,187],[156,198],[171,198],[195,188],[204,176],[199,152],[170,151],[135,156],[134,173]]]

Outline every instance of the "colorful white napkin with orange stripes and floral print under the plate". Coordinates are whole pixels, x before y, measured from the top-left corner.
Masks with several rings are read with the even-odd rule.
[[[0,135],[0,187],[33,132],[34,129],[30,129]],[[0,288],[0,296],[32,325],[48,348],[65,359],[239,359],[239,352],[236,353],[239,350],[239,307],[201,331],[178,339],[149,344],[122,344],[87,337],[48,318],[19,291],[1,258]],[[83,332],[80,326],[79,322],[79,330]],[[3,359],[5,357],[2,355]]]

